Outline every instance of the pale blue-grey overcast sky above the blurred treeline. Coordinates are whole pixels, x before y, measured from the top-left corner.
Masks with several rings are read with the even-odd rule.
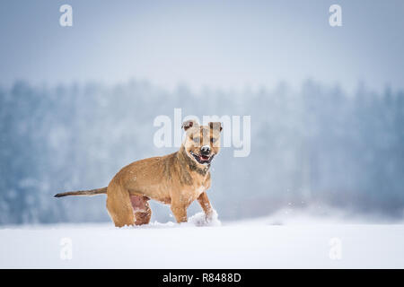
[[[59,25],[61,4],[73,27]],[[342,27],[329,26],[329,6]],[[145,79],[172,88],[404,87],[404,1],[0,2],[0,84]]]

